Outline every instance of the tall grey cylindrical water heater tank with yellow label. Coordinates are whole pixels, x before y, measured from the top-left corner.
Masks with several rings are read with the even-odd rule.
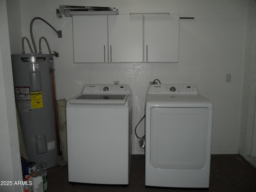
[[[13,54],[14,94],[28,160],[38,169],[57,165],[51,54]]]

